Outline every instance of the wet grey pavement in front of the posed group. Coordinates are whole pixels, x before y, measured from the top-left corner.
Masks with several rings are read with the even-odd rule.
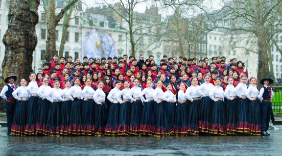
[[[188,137],[47,137],[6,136],[0,128],[3,155],[282,155],[282,126],[270,136]]]

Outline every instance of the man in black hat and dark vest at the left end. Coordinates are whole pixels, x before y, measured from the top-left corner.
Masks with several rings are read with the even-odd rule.
[[[18,88],[18,86],[14,84],[14,81],[16,80],[17,80],[16,76],[8,76],[7,78],[5,78],[4,82],[8,84],[6,84],[2,88],[1,93],[0,93],[0,97],[6,100],[5,107],[6,107],[7,127],[8,127],[7,135],[10,135],[11,133],[14,109],[17,103],[17,100],[12,95],[13,91]]]

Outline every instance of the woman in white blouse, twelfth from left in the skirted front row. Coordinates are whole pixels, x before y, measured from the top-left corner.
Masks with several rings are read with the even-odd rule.
[[[142,135],[155,134],[154,89],[152,85],[152,81],[147,81],[147,87],[139,94],[139,97],[144,103],[140,121],[140,133]],[[143,95],[145,95],[146,99],[144,99]]]

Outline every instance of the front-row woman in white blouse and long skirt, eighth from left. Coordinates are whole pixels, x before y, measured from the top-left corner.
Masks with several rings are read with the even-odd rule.
[[[101,136],[104,134],[106,119],[107,119],[107,111],[104,106],[106,100],[106,94],[102,90],[104,87],[103,82],[97,83],[98,89],[95,91],[93,95],[94,99],[94,131],[93,134],[97,136]]]

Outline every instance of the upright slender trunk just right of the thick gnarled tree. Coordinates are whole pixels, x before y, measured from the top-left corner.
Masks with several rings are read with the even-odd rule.
[[[56,53],[55,0],[47,1],[47,41],[45,59],[49,62]]]

